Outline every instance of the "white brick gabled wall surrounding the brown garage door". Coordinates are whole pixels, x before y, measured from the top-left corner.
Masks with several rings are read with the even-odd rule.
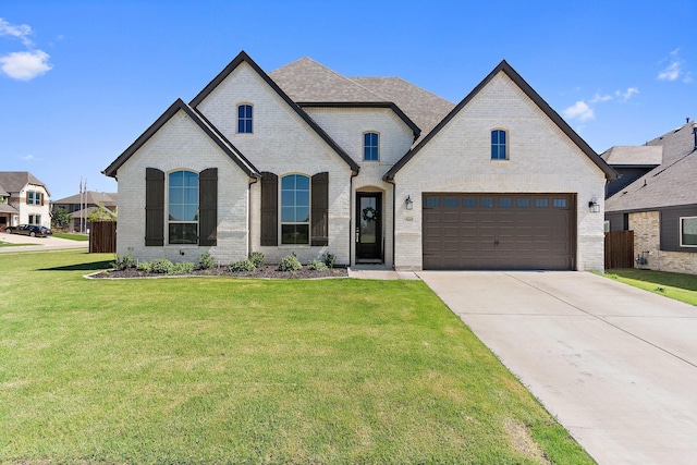
[[[491,130],[505,129],[510,159],[491,160]],[[577,195],[577,269],[603,269],[604,174],[503,73],[496,76],[395,176],[395,268],[421,268],[421,193],[573,193]]]

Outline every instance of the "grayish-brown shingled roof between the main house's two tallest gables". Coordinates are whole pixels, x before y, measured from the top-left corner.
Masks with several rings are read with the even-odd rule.
[[[392,103],[395,113],[418,130],[415,138],[426,135],[455,106],[399,77],[346,77],[309,58],[273,70],[269,77],[301,107]]]

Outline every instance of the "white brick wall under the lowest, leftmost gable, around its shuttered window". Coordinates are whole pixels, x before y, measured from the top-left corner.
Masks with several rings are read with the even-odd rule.
[[[145,170],[168,172],[186,169],[200,172],[218,168],[218,245],[145,246]],[[210,252],[222,264],[246,258],[248,254],[248,178],[210,137],[183,111],[179,111],[145,143],[118,171],[119,221],[117,253],[132,254],[139,260],[169,258],[196,262]],[[166,188],[167,205],[167,188]],[[167,221],[166,221],[167,244]],[[184,255],[181,255],[181,253]]]

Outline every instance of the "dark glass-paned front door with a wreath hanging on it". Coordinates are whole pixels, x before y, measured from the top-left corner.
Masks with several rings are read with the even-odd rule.
[[[382,261],[382,194],[356,194],[356,261]]]

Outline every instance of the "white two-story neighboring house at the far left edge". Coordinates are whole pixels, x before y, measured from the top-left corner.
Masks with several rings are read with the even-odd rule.
[[[50,193],[27,171],[0,171],[0,232],[7,227],[51,227]]]

